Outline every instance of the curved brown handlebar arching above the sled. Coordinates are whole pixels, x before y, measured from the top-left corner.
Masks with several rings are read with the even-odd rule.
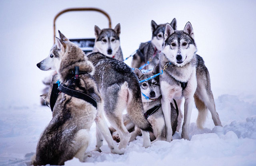
[[[95,11],[95,12],[100,12],[102,14],[104,14],[107,18],[108,18],[108,26],[109,28],[111,28],[111,19],[110,19],[110,16],[104,12],[103,10],[101,9],[98,9],[98,8],[68,8],[68,9],[65,9],[65,10],[62,10],[60,11],[55,17],[54,17],[54,21],[53,21],[53,42],[55,43],[55,36],[56,36],[56,26],[55,26],[55,22],[57,20],[57,18],[62,15],[63,13],[66,13],[66,12],[73,12],[73,11]]]

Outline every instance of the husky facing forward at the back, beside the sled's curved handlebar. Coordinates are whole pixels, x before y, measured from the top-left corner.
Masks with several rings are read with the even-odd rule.
[[[94,26],[95,43],[92,52],[100,52],[108,57],[119,61],[124,61],[122,49],[120,47],[120,24],[113,29],[100,29]]]

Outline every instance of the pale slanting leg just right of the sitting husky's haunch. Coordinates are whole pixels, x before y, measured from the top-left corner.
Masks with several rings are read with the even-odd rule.
[[[103,140],[101,139],[102,138],[101,136],[103,136],[105,138],[106,142],[108,143],[108,147],[110,148],[112,153],[124,154],[124,152],[122,152],[121,150],[118,149],[114,140],[112,139],[111,133],[108,129],[108,124],[106,123],[106,121],[103,117],[101,108],[103,108],[103,106],[98,105],[98,112],[97,112],[96,119],[95,119],[96,126],[98,128],[97,130],[100,132],[100,134],[98,134],[98,136],[100,138],[97,138],[97,143],[102,144]],[[98,142],[98,141],[100,141],[100,142]],[[97,146],[96,146],[96,148],[97,148]],[[98,148],[100,148],[100,147],[98,147]]]

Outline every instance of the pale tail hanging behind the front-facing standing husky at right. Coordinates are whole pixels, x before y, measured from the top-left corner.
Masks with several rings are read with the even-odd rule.
[[[199,99],[199,97],[197,95],[194,95],[194,100],[195,100],[195,104],[196,104],[196,108],[198,109],[198,117],[196,120],[196,124],[198,126],[198,128],[204,128],[204,123],[206,121],[206,117],[208,114],[207,111],[207,107],[204,104],[204,102],[202,100]]]

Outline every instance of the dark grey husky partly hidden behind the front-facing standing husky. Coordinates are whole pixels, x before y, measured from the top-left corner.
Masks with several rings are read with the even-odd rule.
[[[176,19],[171,22],[172,28],[176,30]],[[162,45],[164,43],[164,28],[166,24],[157,25],[153,20],[151,21],[152,39],[149,42],[141,43],[139,49],[133,56],[132,68],[139,68],[147,61],[150,61],[149,65],[144,69],[152,69],[158,63],[160,52],[162,51]]]

